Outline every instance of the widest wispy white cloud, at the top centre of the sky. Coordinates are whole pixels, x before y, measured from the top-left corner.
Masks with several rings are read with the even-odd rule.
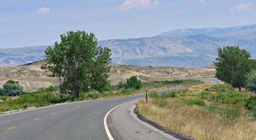
[[[122,3],[119,6],[120,11],[126,11],[129,9],[144,9],[144,8],[151,8],[154,6],[158,6],[159,2],[157,0],[151,1],[151,0],[125,0],[124,3]]]

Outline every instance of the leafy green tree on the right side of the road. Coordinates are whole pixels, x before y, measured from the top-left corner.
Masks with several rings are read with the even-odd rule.
[[[237,45],[218,48],[215,76],[241,91],[241,87],[246,85],[247,73],[255,66],[250,57],[247,50],[239,49]]]

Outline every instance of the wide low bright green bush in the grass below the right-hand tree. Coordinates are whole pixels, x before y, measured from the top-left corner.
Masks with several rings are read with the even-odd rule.
[[[241,92],[219,92],[216,97],[218,103],[224,104],[244,104],[247,101],[248,95]]]

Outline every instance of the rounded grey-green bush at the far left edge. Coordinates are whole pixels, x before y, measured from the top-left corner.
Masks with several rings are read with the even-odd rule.
[[[3,84],[3,95],[17,96],[23,92],[23,87],[20,86],[18,81],[9,80]]]

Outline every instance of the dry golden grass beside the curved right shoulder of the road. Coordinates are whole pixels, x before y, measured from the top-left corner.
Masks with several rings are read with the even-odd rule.
[[[167,106],[158,107],[153,99],[140,100],[141,115],[161,126],[175,130],[198,140],[256,140],[256,121],[249,117],[232,118],[224,121],[222,116],[204,107],[189,106],[166,100]]]

